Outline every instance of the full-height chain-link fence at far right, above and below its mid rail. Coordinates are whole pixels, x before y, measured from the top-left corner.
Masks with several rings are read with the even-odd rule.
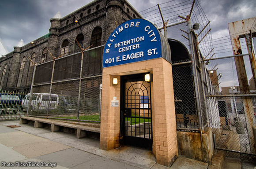
[[[245,55],[248,92],[241,90],[234,58],[217,58],[214,61],[218,66],[208,71],[213,88],[212,93],[206,93],[209,126],[217,150],[225,151],[226,157],[253,161],[256,160],[255,82]]]

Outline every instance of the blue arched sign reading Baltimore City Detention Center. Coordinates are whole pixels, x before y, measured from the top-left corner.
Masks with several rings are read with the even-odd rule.
[[[161,57],[158,29],[147,20],[131,19],[110,34],[103,52],[103,68]]]

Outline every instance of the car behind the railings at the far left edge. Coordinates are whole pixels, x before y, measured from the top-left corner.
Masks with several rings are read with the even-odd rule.
[[[17,114],[22,108],[19,94],[0,93],[0,114]]]

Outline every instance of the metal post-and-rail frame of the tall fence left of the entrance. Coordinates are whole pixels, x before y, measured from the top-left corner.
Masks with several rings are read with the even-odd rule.
[[[84,52],[87,52],[87,51],[90,51],[90,50],[94,50],[94,49],[97,49],[97,48],[102,48],[104,47],[104,45],[101,45],[101,46],[98,46],[96,48],[92,48],[92,49],[88,49],[88,50],[83,50],[81,48],[81,66],[80,66],[80,76],[79,77],[76,77],[76,78],[71,78],[71,79],[63,79],[63,80],[57,80],[57,81],[53,81],[53,76],[54,76],[54,70],[55,70],[55,60],[57,59],[63,59],[63,58],[66,58],[66,57],[69,57],[69,56],[72,56],[72,55],[76,55],[76,54],[72,54],[72,55],[68,55],[68,56],[65,56],[65,57],[61,57],[61,58],[57,58],[55,59],[53,56],[53,60],[52,61],[49,61],[49,62],[53,62],[53,68],[52,68],[52,76],[51,76],[51,81],[50,82],[47,82],[47,83],[41,83],[41,84],[34,84],[34,78],[35,78],[35,73],[36,73],[36,67],[39,66],[39,65],[42,65],[42,64],[45,64],[45,63],[48,63],[48,62],[45,62],[45,63],[40,63],[40,64],[35,64],[34,63],[34,72],[33,72],[33,78],[32,78],[32,83],[31,83],[31,88],[30,88],[30,93],[38,93],[38,92],[34,92],[34,88],[37,88],[37,87],[45,87],[45,91],[46,92],[43,92],[43,93],[49,93],[49,99],[48,99],[48,105],[47,107],[45,108],[45,111],[44,112],[40,112],[40,113],[36,113],[34,110],[33,110],[33,113],[32,113],[32,110],[31,110],[31,97],[29,98],[29,103],[28,103],[28,108],[27,108],[27,116],[33,116],[33,117],[44,117],[44,118],[52,118],[52,119],[59,119],[59,120],[69,120],[69,121],[83,121],[83,122],[96,122],[96,123],[100,123],[100,114],[101,114],[101,90],[102,90],[102,87],[100,86],[100,84],[102,83],[102,73],[100,74],[94,74],[94,75],[87,75],[87,76],[83,76],[82,73],[83,73],[83,53]],[[79,111],[82,109],[80,108],[80,106],[83,106],[83,109],[84,109],[84,105],[81,105],[81,90],[83,88],[83,90],[85,90],[86,86],[82,86],[83,82],[86,82],[90,79],[95,79],[97,78],[99,81],[96,82],[97,87],[94,86],[94,88],[98,88],[98,96],[97,96],[97,111],[98,111],[98,116],[99,118],[98,119],[95,119],[95,120],[83,120],[83,119],[79,119],[79,116],[81,116],[82,113],[79,113]],[[68,119],[68,118],[56,118],[56,117],[51,117],[51,113],[49,112],[50,110],[50,101],[51,100],[51,96],[52,96],[52,93],[54,94],[59,94],[58,91],[56,92],[53,92],[53,88],[54,88],[54,85],[58,85],[58,84],[67,84],[69,82],[72,82],[72,83],[75,83],[79,81],[79,85],[78,85],[78,90],[77,90],[77,101],[76,101],[76,111],[75,111],[75,114],[76,114],[76,119]],[[47,88],[46,86],[49,86],[49,88]],[[74,87],[74,86],[73,86]],[[42,93],[41,90],[39,93]],[[92,97],[95,97],[95,94],[93,94],[94,96]],[[88,96],[90,98],[90,96]],[[35,106],[35,105],[34,105]],[[88,106],[88,105],[87,105]],[[95,106],[94,106],[95,107]],[[74,114],[73,114],[74,115]],[[83,113],[83,115],[85,115]],[[89,116],[89,114],[88,114]]]

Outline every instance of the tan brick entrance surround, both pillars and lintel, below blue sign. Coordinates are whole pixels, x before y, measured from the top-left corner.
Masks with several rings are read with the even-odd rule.
[[[177,132],[172,66],[163,58],[103,68],[100,148],[120,147],[120,107],[111,107],[113,97],[120,100],[120,76],[146,72],[153,73],[152,151],[158,164],[170,166],[178,155]],[[118,78],[117,85],[112,84],[113,78]]]

